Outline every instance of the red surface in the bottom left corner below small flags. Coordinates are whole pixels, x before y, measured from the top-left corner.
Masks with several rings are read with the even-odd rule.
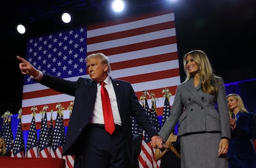
[[[1,156],[0,168],[66,168],[60,158],[12,158]]]

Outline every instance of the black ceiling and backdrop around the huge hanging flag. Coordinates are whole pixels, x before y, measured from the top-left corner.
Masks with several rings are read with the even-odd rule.
[[[173,9],[176,20],[177,47],[181,58],[187,51],[202,49],[208,54],[215,73],[226,83],[256,78],[256,1],[255,0],[127,0],[125,14],[115,16],[110,0],[6,1],[0,10],[2,92],[0,113],[17,113],[21,106],[23,75],[16,55],[25,56],[28,37],[72,26],[88,25],[142,14]],[[60,22],[63,11],[72,12],[74,21]],[[15,31],[18,23],[27,25],[28,33]],[[181,69],[181,76],[184,76]]]

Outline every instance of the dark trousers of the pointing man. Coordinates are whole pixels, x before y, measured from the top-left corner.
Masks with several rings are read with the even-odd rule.
[[[84,143],[82,157],[77,158],[74,167],[129,168],[129,156],[121,127],[116,127],[114,133],[109,135],[102,126],[88,126]]]

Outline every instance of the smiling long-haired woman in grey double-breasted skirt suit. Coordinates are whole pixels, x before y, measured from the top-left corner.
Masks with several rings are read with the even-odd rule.
[[[184,55],[186,81],[177,87],[169,119],[160,130],[166,142],[179,122],[181,168],[228,168],[229,113],[223,79],[213,74],[207,55]]]

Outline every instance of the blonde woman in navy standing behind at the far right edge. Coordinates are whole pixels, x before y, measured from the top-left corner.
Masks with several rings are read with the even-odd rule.
[[[254,113],[244,107],[237,94],[227,95],[231,141],[229,142],[229,168],[256,168],[256,153],[252,139],[255,132]]]

